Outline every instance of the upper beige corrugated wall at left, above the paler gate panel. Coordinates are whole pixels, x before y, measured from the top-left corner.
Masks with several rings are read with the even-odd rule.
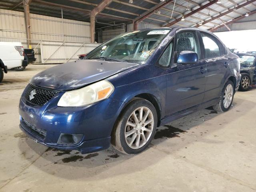
[[[90,23],[30,14],[32,39],[90,42]],[[64,39],[63,39],[64,34]],[[0,9],[0,37],[26,38],[23,12]]]

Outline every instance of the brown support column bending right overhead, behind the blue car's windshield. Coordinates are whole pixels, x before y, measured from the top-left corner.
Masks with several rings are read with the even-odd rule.
[[[110,4],[112,0],[102,0],[100,4],[98,4],[90,14],[90,30],[91,30],[91,43],[95,41],[95,18],[96,16]]]

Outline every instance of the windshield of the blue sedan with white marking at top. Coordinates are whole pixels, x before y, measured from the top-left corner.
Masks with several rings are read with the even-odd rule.
[[[144,64],[169,32],[170,29],[151,29],[124,33],[101,44],[86,58]]]

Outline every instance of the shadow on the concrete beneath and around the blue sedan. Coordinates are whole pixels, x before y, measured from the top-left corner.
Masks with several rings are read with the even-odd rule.
[[[236,107],[242,105],[244,102],[249,101],[234,99],[232,108],[227,113],[237,113],[241,116],[242,113],[239,113],[240,111],[236,110]],[[104,178],[109,176],[110,172],[114,172],[112,173],[114,175],[115,167],[119,164],[124,163],[127,166],[129,162],[131,164],[137,162],[137,166],[130,166],[129,169],[121,169],[118,171],[118,174],[136,172],[152,164],[156,164],[166,155],[172,154],[180,148],[187,148],[191,142],[199,139],[201,142],[220,142],[214,139],[206,139],[204,136],[213,135],[214,131],[223,128],[225,123],[228,124],[229,120],[217,125],[208,123],[209,120],[221,114],[223,113],[216,112],[212,108],[207,108],[158,127],[150,147],[136,156],[122,154],[112,146],[108,150],[91,154],[80,154],[78,151],[57,150],[35,143],[31,138],[26,137],[26,135],[23,138],[20,137],[19,148],[24,159],[31,161],[33,166],[48,174],[54,174],[55,176],[67,179],[90,179],[91,176],[95,176],[96,174]],[[204,131],[202,131],[202,128],[200,130],[198,129],[198,126],[202,125],[205,125],[205,129],[203,127]],[[212,138],[214,137],[213,135]],[[160,151],[160,148],[164,149],[164,153],[156,156],[155,154]],[[72,172],[70,172],[70,167],[72,167]]]

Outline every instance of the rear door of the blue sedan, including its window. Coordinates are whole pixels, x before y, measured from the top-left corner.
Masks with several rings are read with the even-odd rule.
[[[208,32],[199,32],[202,52],[207,65],[204,102],[218,98],[224,83],[224,76],[229,65],[226,50],[221,42]]]

